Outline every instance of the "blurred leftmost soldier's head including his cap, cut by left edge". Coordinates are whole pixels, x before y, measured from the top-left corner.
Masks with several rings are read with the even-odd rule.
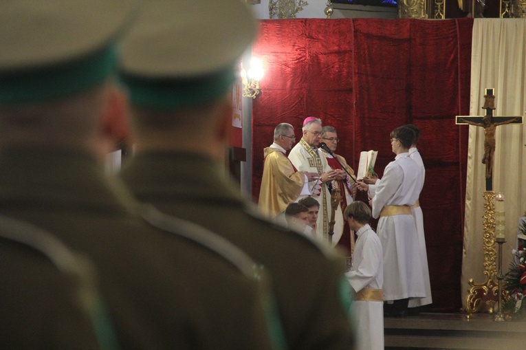
[[[5,6],[4,6],[5,5]],[[116,41],[131,0],[17,0],[3,4],[0,142],[99,151],[116,98]],[[111,127],[110,127],[111,129]]]

